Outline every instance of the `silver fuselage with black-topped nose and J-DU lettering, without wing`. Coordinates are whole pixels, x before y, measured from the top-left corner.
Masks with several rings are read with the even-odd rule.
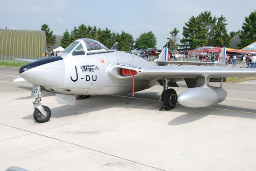
[[[83,43],[80,40],[80,44],[85,46]],[[104,95],[132,92],[131,79],[117,80],[109,76],[108,71],[112,64],[119,62],[120,67],[125,62],[132,62],[137,68],[150,65],[139,56],[125,52],[108,51],[77,55],[73,51],[27,64],[20,68],[20,76],[33,85],[40,85],[46,91],[60,94]],[[116,75],[122,77],[121,69],[115,70]],[[156,80],[136,81],[134,88],[135,91],[140,91],[156,83]]]

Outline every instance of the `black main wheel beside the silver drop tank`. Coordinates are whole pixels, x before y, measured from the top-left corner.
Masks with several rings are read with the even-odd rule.
[[[163,105],[173,109],[177,103],[177,93],[174,89],[170,88],[164,92]]]

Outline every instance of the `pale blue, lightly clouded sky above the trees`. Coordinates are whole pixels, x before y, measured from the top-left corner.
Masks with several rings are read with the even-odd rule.
[[[227,1],[227,0],[226,0]],[[242,29],[245,17],[256,10],[256,0],[0,0],[0,28],[40,30],[48,24],[55,35],[63,35],[80,24],[130,33],[136,40],[152,31],[157,48],[177,28],[180,39],[184,23],[201,12],[223,15],[228,32]],[[231,3],[232,2],[232,3]]]

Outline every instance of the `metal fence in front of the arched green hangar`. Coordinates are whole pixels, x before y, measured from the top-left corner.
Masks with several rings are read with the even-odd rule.
[[[0,55],[0,62],[21,62],[15,59],[41,60],[44,59],[44,56]]]

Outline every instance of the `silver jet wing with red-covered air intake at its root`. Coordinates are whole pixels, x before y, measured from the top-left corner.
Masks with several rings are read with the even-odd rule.
[[[132,66],[132,64],[130,64]],[[121,70],[128,71],[123,76]],[[134,72],[135,71],[135,72]],[[151,66],[151,67],[129,67],[115,65],[109,69],[108,74],[118,80],[165,80],[177,78],[226,78],[226,77],[249,77],[256,76],[256,71],[247,68],[224,68],[217,66]]]

